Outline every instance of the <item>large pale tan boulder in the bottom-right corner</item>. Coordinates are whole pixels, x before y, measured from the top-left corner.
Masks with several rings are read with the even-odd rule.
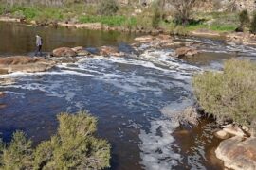
[[[230,138],[223,141],[215,153],[230,169],[256,169],[256,138],[248,138],[245,141],[241,137]]]

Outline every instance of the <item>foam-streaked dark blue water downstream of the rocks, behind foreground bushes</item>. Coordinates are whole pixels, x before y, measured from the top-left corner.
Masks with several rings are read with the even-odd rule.
[[[50,72],[2,76],[16,80],[15,84],[0,88],[8,92],[4,102],[14,101],[1,113],[4,119],[0,120],[0,130],[5,140],[14,130],[9,129],[14,121],[28,119],[26,126],[18,124],[15,129],[25,130],[39,142],[56,128],[53,115],[89,110],[99,118],[101,137],[113,144],[118,161],[113,161],[114,168],[131,168],[126,159],[134,162],[136,169],[164,169],[170,163],[175,166],[181,156],[171,145],[172,132],[178,124],[162,109],[172,102],[192,98],[191,75],[200,69],[175,60],[168,53],[164,56],[163,51],[145,53],[137,59],[99,56],[60,64]],[[160,58],[151,58],[155,54]],[[35,124],[36,121],[39,122]],[[135,150],[123,150],[122,145]]]

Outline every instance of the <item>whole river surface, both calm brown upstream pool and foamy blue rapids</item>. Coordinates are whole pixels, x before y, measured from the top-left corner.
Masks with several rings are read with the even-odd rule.
[[[132,35],[117,32],[0,26],[2,56],[32,52],[37,32],[46,40],[45,51],[133,41]],[[7,105],[0,110],[1,137],[8,142],[21,129],[38,144],[55,133],[56,114],[89,110],[99,119],[99,136],[112,144],[111,169],[223,169],[213,153],[219,141],[211,123],[202,120],[188,129],[179,127],[175,117],[194,102],[194,73],[221,69],[230,58],[255,59],[256,49],[208,39],[175,41],[192,42],[202,53],[184,61],[174,58],[174,49],[143,44],[138,56],[84,58],[46,73],[0,76],[15,80],[0,86],[6,93],[0,103]]]

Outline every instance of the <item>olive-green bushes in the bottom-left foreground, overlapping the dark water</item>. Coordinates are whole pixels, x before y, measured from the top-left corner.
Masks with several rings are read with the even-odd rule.
[[[110,144],[95,138],[96,119],[88,113],[58,115],[59,128],[36,148],[17,131],[10,144],[0,143],[0,169],[103,169],[109,167]]]

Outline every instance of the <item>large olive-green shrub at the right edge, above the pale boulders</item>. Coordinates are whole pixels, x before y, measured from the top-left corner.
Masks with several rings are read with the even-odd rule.
[[[230,59],[223,72],[205,72],[193,77],[194,94],[200,106],[219,122],[232,120],[252,127],[256,121],[256,63]]]

